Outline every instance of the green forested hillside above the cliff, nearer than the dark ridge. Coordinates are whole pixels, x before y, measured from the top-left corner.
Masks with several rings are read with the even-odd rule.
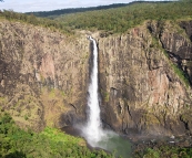
[[[117,33],[142,24],[145,20],[172,20],[192,18],[191,2],[135,2],[115,9],[63,14],[55,18],[72,29],[105,30]]]

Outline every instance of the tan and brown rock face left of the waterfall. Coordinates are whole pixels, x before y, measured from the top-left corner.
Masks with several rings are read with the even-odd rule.
[[[23,127],[41,130],[84,119],[89,41],[0,21],[0,105]]]

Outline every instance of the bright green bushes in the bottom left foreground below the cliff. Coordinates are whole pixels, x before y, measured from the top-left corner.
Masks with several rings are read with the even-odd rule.
[[[89,150],[82,138],[47,127],[37,134],[19,128],[7,113],[0,113],[0,157],[2,158],[112,158]]]

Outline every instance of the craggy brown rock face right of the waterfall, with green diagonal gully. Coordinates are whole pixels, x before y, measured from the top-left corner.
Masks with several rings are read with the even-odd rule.
[[[192,131],[188,29],[192,22],[188,25],[186,34],[179,25],[150,21],[127,34],[99,39],[101,108],[107,126],[125,134]]]

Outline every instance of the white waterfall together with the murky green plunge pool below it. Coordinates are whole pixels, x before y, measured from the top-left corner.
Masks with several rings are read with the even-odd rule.
[[[92,147],[100,147],[109,151],[117,150],[117,156],[127,158],[131,154],[130,143],[111,130],[103,130],[100,119],[99,92],[98,92],[98,48],[94,39],[89,36],[93,44],[93,61],[88,97],[88,122],[84,126],[77,126],[82,130],[82,136]]]

